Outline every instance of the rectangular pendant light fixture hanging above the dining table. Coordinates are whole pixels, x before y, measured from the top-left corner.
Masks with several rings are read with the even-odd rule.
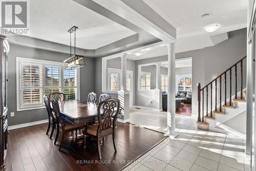
[[[64,60],[64,68],[80,68],[86,66],[86,61],[84,60],[84,56],[76,54],[76,30],[78,27],[73,26],[68,32],[70,33],[70,57]],[[72,55],[72,44],[71,44],[71,35],[74,33],[75,44],[74,44],[74,55]]]

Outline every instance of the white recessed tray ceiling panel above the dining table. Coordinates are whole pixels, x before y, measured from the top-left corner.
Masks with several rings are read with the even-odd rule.
[[[134,31],[71,0],[30,1],[30,37],[70,45],[68,30],[77,26],[76,46],[97,49]]]

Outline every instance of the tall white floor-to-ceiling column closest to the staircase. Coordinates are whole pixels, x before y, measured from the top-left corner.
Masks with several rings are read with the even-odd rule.
[[[168,95],[167,95],[167,133],[175,136],[175,42],[167,44],[168,48]]]

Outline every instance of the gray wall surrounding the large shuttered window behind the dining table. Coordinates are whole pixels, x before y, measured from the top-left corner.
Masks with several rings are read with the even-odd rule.
[[[14,117],[9,117],[9,125],[16,125],[47,119],[45,109],[19,111],[16,110],[16,57],[42,59],[62,62],[69,54],[52,52],[47,50],[29,48],[10,44],[8,55],[8,111],[14,112]],[[87,100],[88,93],[94,91],[95,81],[93,58],[86,58],[86,67],[80,69],[80,99]],[[9,115],[10,116],[10,115]]]

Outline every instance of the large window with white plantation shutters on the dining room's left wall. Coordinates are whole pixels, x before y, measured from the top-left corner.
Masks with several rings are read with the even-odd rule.
[[[63,92],[66,100],[77,99],[78,71],[63,63],[17,57],[17,111],[41,108],[42,95]]]

